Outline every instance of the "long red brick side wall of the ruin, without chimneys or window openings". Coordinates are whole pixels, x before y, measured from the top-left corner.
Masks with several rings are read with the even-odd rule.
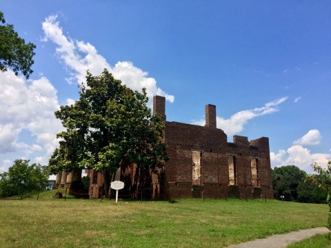
[[[192,198],[192,192],[198,190],[192,187],[194,150],[201,151],[201,197],[227,198],[228,195],[233,195],[250,199],[254,198],[254,194],[263,198],[267,194],[268,198],[272,198],[268,138],[249,142],[247,137],[234,136],[234,142],[228,143],[222,130],[167,121],[165,143],[169,147],[170,157],[164,167],[170,198]],[[234,185],[231,189],[228,187],[229,155],[235,156],[237,167],[237,186]],[[258,191],[252,185],[252,158],[258,158],[261,185]]]

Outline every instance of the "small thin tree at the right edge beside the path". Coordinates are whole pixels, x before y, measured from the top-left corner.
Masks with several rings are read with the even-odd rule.
[[[317,163],[312,163],[312,167],[317,174],[312,174],[310,179],[328,192],[327,202],[330,210],[326,227],[331,231],[331,161],[328,162],[325,168],[319,166]],[[327,237],[331,240],[331,234],[328,234]]]

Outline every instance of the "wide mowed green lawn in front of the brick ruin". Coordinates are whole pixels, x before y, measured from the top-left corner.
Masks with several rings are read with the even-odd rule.
[[[0,200],[0,247],[226,247],[326,225],[328,205],[277,200]]]

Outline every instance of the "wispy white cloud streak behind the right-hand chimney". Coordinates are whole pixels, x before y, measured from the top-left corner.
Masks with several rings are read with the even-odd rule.
[[[237,112],[228,119],[217,116],[217,127],[221,128],[228,136],[238,134],[243,130],[243,126],[252,118],[263,116],[265,114],[272,114],[279,111],[278,105],[286,101],[286,99],[288,98],[283,97],[281,99],[265,103],[263,107],[257,107],[253,110],[243,110]],[[205,125],[205,120],[194,121],[192,124]]]

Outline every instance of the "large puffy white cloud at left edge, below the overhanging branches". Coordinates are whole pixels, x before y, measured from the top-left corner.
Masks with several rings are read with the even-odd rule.
[[[55,134],[62,129],[54,116],[59,109],[57,90],[44,76],[26,81],[11,70],[0,73],[0,88],[0,154],[44,152],[48,159],[57,146]],[[37,143],[18,141],[22,130],[30,131]]]

